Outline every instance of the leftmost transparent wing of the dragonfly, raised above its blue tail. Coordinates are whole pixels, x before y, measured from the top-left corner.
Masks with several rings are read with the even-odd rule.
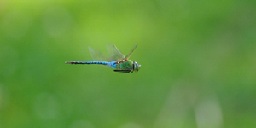
[[[106,55],[103,55],[100,51],[89,47],[90,55],[93,61],[111,61]]]

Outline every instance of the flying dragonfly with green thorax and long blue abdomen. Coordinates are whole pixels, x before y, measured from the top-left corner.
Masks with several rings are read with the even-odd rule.
[[[141,65],[129,58],[133,51],[137,48],[137,44],[131,49],[129,55],[123,55],[114,44],[107,44],[109,57],[103,55],[100,51],[89,47],[90,55],[94,61],[69,61],[67,64],[96,64],[111,67],[114,72],[133,73],[137,72]]]

